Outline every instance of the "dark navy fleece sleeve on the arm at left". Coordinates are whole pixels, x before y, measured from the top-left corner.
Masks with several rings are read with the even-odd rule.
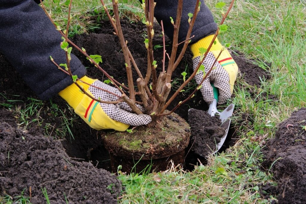
[[[1,0],[0,19],[0,51],[39,98],[47,100],[73,83],[49,58],[66,63],[62,36],[40,6],[33,0]],[[73,74],[84,76],[85,67],[71,57]]]

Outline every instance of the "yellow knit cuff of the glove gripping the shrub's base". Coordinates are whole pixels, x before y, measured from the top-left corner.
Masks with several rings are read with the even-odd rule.
[[[91,79],[87,76],[80,78],[80,80],[87,82],[88,84],[92,84],[96,81],[96,79]],[[89,88],[88,84],[82,83],[80,81],[76,81],[76,83],[83,87],[85,91]],[[84,93],[82,93],[79,87],[73,83],[72,85],[66,87],[64,90],[60,91],[58,95],[60,95],[73,109],[75,109],[83,99]]]

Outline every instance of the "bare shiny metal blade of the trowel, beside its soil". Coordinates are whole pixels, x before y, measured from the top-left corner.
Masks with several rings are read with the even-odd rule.
[[[221,127],[223,127],[225,129],[225,133],[222,136],[220,142],[217,144],[217,149],[214,152],[214,154],[217,153],[219,151],[219,149],[221,149],[222,145],[225,142],[227,133],[228,133],[228,131],[230,129],[230,121],[231,121],[230,117],[233,115],[234,108],[235,108],[235,105],[234,104],[230,104],[226,109],[224,109],[224,111],[219,113],[220,120],[222,122]]]

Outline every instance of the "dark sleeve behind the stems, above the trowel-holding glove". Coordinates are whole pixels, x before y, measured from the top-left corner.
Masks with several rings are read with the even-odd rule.
[[[195,37],[191,40],[192,42],[196,42],[203,37],[214,34],[218,28],[211,14],[211,11],[207,8],[203,0],[200,1],[200,12],[197,15],[196,22],[193,26],[191,34],[191,36],[195,35]],[[140,2],[142,1],[140,0]],[[154,16],[159,23],[162,20],[166,35],[170,39],[173,39],[173,25],[171,24],[170,17],[172,17],[175,22],[177,0],[155,0],[155,2],[156,6],[154,10]],[[195,6],[196,0],[183,1],[183,11],[178,34],[178,42],[182,42],[186,38],[189,28],[188,13],[193,13]]]

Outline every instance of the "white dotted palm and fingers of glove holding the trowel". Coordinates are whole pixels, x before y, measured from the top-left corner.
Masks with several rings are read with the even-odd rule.
[[[205,66],[205,73],[209,71],[213,63],[215,62],[215,56],[209,52],[203,61],[203,65]],[[193,59],[193,70],[196,69],[200,62],[200,56]],[[196,83],[200,84],[203,79],[203,72],[200,71],[195,76]],[[229,74],[220,63],[217,61],[215,63],[214,69],[211,70],[207,78],[202,83],[201,93],[203,95],[203,99],[208,103],[211,104],[214,100],[214,92],[211,83],[214,84],[215,87],[219,89],[219,98],[218,103],[223,104],[226,102],[227,99],[230,98],[230,77]]]

